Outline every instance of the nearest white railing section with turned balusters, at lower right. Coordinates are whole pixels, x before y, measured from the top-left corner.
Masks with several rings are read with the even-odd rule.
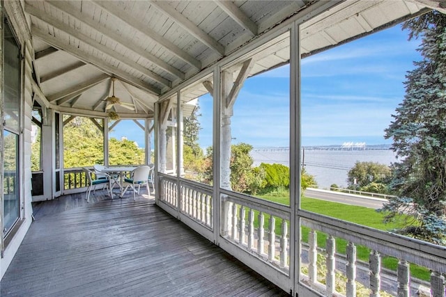
[[[308,232],[302,234],[308,242],[301,243],[300,281],[323,296],[446,296],[446,247],[307,211],[300,215],[307,227],[302,232]],[[318,236],[326,238],[325,247],[318,248]],[[346,244],[345,253],[336,252],[337,242]],[[357,248],[369,251],[368,262],[357,259]],[[396,269],[385,268],[385,258],[393,258]],[[415,265],[430,273],[430,280],[420,279],[415,269],[411,273]],[[357,286],[365,289],[358,293]]]

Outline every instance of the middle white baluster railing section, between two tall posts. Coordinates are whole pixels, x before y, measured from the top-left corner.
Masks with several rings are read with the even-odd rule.
[[[241,196],[222,195],[222,236],[289,275],[289,207]]]

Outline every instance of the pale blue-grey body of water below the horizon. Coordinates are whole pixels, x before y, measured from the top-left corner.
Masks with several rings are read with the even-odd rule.
[[[254,149],[251,152],[254,166],[260,163],[279,163],[289,166],[289,150]],[[357,161],[372,161],[385,165],[398,161],[392,150],[305,150],[302,155],[305,170],[314,175],[318,188],[331,184],[347,186],[348,171]]]

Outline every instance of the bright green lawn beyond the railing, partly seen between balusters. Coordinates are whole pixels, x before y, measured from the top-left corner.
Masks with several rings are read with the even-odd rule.
[[[268,197],[260,196],[259,198],[278,202],[281,204],[289,205],[289,197]],[[330,216],[332,218],[339,218],[340,220],[346,220],[351,223],[356,223],[359,225],[364,225],[367,227],[372,227],[377,230],[390,231],[392,229],[402,227],[403,222],[397,223],[383,223],[384,214],[378,213],[375,209],[370,209],[367,207],[359,207],[355,205],[330,202],[325,200],[313,199],[302,197],[300,201],[300,206],[302,209],[307,211],[312,211],[316,214],[323,214],[325,216]],[[325,248],[325,241],[327,239],[327,234],[322,232],[317,232],[318,246]],[[276,225],[276,234],[280,234],[280,226]],[[302,241],[308,242],[309,228],[302,227]],[[348,242],[344,239],[336,239],[336,250],[341,254],[346,254],[346,246]],[[364,246],[357,246],[357,259],[363,262],[369,262],[370,249]],[[398,259],[394,257],[383,257],[381,259],[383,267],[396,271],[398,268]],[[417,266],[415,264],[410,265],[410,274],[419,278],[421,280],[429,280],[430,272],[427,268]]]

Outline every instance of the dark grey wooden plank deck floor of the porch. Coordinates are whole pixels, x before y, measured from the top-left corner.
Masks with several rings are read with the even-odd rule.
[[[153,197],[83,197],[34,206],[1,296],[288,296]]]

